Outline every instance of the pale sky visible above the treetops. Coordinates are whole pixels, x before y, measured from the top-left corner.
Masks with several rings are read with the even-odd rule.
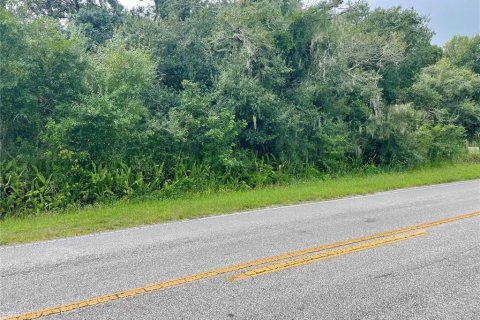
[[[315,1],[315,0],[310,0]],[[153,4],[153,0],[119,0],[127,8],[139,4]],[[480,0],[367,0],[370,7],[415,8],[430,17],[430,28],[435,31],[434,44],[443,45],[454,35],[480,33]]]

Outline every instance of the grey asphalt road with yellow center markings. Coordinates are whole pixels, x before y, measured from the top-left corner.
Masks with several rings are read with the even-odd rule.
[[[421,225],[476,211],[480,180],[1,247],[0,315],[114,294],[42,319],[480,319],[480,215]]]

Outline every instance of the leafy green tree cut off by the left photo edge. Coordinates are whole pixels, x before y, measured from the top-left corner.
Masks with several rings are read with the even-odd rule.
[[[22,22],[1,11],[2,158],[34,156],[55,107],[78,101],[86,67],[83,38],[50,19]]]

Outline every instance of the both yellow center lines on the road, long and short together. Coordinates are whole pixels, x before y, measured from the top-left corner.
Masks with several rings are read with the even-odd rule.
[[[395,243],[402,240],[415,238],[418,236],[425,235],[426,231],[424,229],[435,227],[435,226],[446,224],[446,223],[452,223],[459,220],[473,218],[476,216],[480,216],[480,211],[475,211],[467,214],[453,216],[446,219],[423,223],[416,226],[410,226],[410,227],[396,229],[392,231],[376,233],[376,234],[368,235],[365,237],[359,237],[355,239],[335,242],[335,243],[322,245],[318,247],[292,251],[292,252],[284,253],[277,256],[256,259],[256,260],[252,260],[252,261],[241,263],[241,264],[227,266],[224,268],[213,269],[207,272],[202,272],[202,273],[189,275],[186,277],[162,281],[159,283],[155,283],[155,284],[151,284],[151,285],[147,285],[139,288],[120,291],[120,292],[103,295],[99,297],[94,297],[91,299],[77,301],[77,302],[73,302],[73,303],[69,303],[61,306],[32,311],[28,313],[22,313],[14,316],[7,316],[5,318],[2,318],[2,320],[37,319],[40,317],[64,313],[64,312],[68,312],[68,311],[72,311],[72,310],[76,310],[84,307],[95,306],[98,304],[103,304],[103,303],[115,301],[118,299],[132,297],[139,294],[158,291],[161,289],[167,289],[167,288],[171,288],[171,287],[175,287],[175,286],[179,286],[179,285],[183,285],[183,284],[187,284],[187,283],[191,283],[194,281],[199,281],[207,278],[216,277],[222,274],[227,274],[227,273],[231,273],[231,272],[235,272],[243,269],[249,269],[252,267],[266,265],[261,268],[248,270],[246,272],[233,275],[232,277],[229,278],[230,281],[242,280],[249,277],[255,277],[255,276],[276,272],[276,271],[280,271],[288,268],[298,267],[298,266],[305,265],[308,263],[313,263],[319,260],[329,259],[329,258],[337,257],[340,255],[350,254],[350,253],[367,250],[367,249],[371,249],[371,248],[382,246],[382,245]],[[341,249],[337,249],[337,248],[341,248]],[[330,250],[330,249],[336,249],[336,250]],[[285,260],[285,261],[279,262],[282,260]]]

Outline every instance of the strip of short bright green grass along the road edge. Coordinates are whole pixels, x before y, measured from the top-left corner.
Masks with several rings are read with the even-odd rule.
[[[362,174],[248,191],[224,191],[181,199],[119,201],[63,213],[0,222],[0,244],[69,237],[144,224],[253,208],[367,194],[397,188],[480,178],[480,164],[454,164],[404,172]]]

